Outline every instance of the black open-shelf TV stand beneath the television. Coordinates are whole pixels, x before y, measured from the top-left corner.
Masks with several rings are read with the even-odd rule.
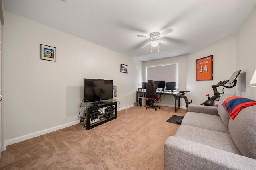
[[[114,108],[112,109],[112,116],[108,116],[108,117],[101,117],[101,119],[95,123],[91,123],[90,124],[90,118],[91,117],[91,111],[93,110],[97,110],[99,108],[104,108],[104,107],[108,107],[108,106],[114,106]],[[108,121],[111,121],[113,119],[117,118],[117,102],[97,102],[96,105],[92,105],[92,106],[87,106],[86,107],[86,115],[85,115],[85,119],[86,119],[86,125],[85,125],[85,129],[86,130],[90,130],[98,125],[102,125],[103,123],[106,123]]]

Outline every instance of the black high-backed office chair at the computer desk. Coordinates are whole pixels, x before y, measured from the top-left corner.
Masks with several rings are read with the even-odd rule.
[[[156,108],[158,107],[160,109],[160,106],[154,106],[154,102],[158,101],[160,99],[160,97],[158,97],[158,95],[156,94],[156,89],[157,86],[154,83],[153,80],[148,80],[148,83],[146,85],[146,103],[149,102],[150,105],[146,105],[146,110],[148,108],[154,108],[156,110]]]

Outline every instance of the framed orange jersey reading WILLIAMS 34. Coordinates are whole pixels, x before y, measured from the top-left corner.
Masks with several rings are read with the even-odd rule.
[[[196,81],[213,80],[213,55],[196,60]]]

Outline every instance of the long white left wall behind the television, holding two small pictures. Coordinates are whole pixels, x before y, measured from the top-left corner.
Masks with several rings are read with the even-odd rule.
[[[9,12],[4,19],[4,138],[9,144],[77,121],[83,78],[114,80],[120,108],[134,106],[141,61]],[[56,62],[40,59],[40,44],[56,47]],[[120,64],[128,65],[128,74],[120,72]]]

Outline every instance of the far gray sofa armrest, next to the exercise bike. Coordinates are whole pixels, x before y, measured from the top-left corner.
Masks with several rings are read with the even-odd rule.
[[[206,114],[210,114],[210,115],[218,115],[218,107],[189,104],[188,112],[197,112],[197,113],[206,113]]]

